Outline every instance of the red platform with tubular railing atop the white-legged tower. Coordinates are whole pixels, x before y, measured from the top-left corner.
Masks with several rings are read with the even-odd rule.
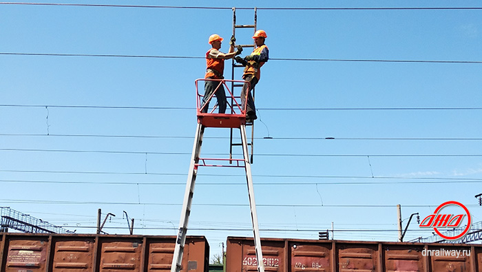
[[[214,113],[215,109],[218,107],[218,104],[214,105],[210,110],[207,110],[207,113],[202,112],[203,109],[207,106],[208,103],[202,105],[202,100],[204,99],[204,86],[202,86],[201,90],[199,90],[199,82],[200,81],[218,81],[218,87],[216,90],[209,96],[207,102],[210,102],[214,97],[216,91],[220,88],[220,86],[224,87],[224,93],[226,94],[226,113],[224,114],[216,114]],[[241,105],[241,97],[240,95],[235,96],[232,91],[232,87],[244,85],[245,83],[249,84],[247,81],[234,81],[229,79],[196,79],[196,113],[198,116],[198,123],[201,123],[205,127],[240,127],[240,125],[246,124],[246,105],[242,108]],[[227,83],[231,83],[231,87],[228,86]]]

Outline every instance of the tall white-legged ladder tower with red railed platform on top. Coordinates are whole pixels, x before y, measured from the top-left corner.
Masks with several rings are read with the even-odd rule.
[[[231,103],[228,103],[228,107],[231,107],[231,114],[214,114],[212,109],[208,110],[208,113],[201,112],[202,94],[199,94],[198,82],[202,81],[219,81],[227,90],[227,98],[231,98]],[[196,176],[198,174],[198,167],[244,167],[246,172],[246,180],[249,196],[249,207],[251,209],[251,222],[253,224],[255,253],[258,260],[258,272],[264,272],[263,256],[261,251],[260,229],[258,227],[258,214],[256,213],[256,204],[253,188],[253,177],[251,175],[251,163],[249,159],[249,143],[247,141],[246,133],[246,109],[242,109],[240,102],[236,100],[239,96],[234,96],[233,92],[229,89],[227,83],[232,85],[244,84],[246,81],[235,81],[225,79],[197,79],[196,80],[196,92],[197,97],[197,116],[198,125],[196,127],[196,136],[194,138],[193,151],[191,155],[191,161],[189,164],[189,174],[187,176],[186,190],[184,201],[182,202],[182,211],[179,221],[178,236],[176,239],[176,247],[174,248],[174,256],[171,264],[171,272],[180,272],[182,269],[182,253],[184,251],[187,224],[191,213],[191,203],[194,194],[194,185],[196,182]],[[215,91],[216,92],[216,91]],[[213,94],[209,99],[213,97]],[[216,105],[214,106],[216,107]],[[207,127],[224,127],[231,129],[240,129],[240,138],[242,145],[242,158],[232,158],[231,154],[229,158],[200,158],[202,138]],[[215,163],[210,163],[214,161]],[[224,163],[224,164],[223,164]]]

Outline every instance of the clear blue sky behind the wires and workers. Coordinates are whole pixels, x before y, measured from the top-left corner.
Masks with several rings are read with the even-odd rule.
[[[107,232],[128,233],[127,211],[134,233],[175,235],[207,38],[229,39],[229,8],[256,6],[271,60],[252,171],[260,229],[278,230],[262,237],[317,239],[333,222],[336,239],[395,241],[397,204],[424,218],[448,200],[482,220],[482,10],[273,9],[478,1],[48,3],[157,8],[0,3],[0,206],[80,233],[95,232],[98,208],[116,214]],[[237,16],[252,23],[253,10]],[[205,137],[205,156],[229,152],[226,129]],[[251,236],[244,182],[242,169],[199,171],[188,234],[207,236],[211,253]],[[405,240],[430,236],[409,230]]]

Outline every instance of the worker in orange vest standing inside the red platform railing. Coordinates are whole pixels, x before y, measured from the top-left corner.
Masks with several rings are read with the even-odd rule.
[[[224,79],[222,76],[224,72],[224,60],[225,59],[232,59],[234,56],[241,54],[242,48],[238,46],[238,50],[234,52],[234,43],[236,39],[234,36],[231,36],[231,41],[229,42],[229,52],[224,54],[220,52],[221,36],[218,34],[212,34],[209,36],[209,44],[212,46],[206,52],[206,74],[205,74],[205,96],[202,98],[202,106],[201,112],[206,113],[209,108],[209,97],[213,94],[213,92],[218,87],[218,90],[214,93],[216,99],[218,100],[218,112],[220,114],[224,114],[226,112],[226,94],[224,93],[224,87],[222,86],[221,81],[210,81],[209,79]]]

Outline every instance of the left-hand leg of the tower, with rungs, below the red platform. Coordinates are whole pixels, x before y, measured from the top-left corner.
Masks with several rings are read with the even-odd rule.
[[[189,174],[187,176],[186,191],[184,194],[184,202],[182,202],[181,217],[179,220],[179,232],[176,239],[176,247],[174,247],[174,256],[172,258],[171,272],[179,272],[182,264],[182,253],[186,243],[187,222],[191,213],[191,203],[194,193],[194,184],[196,175],[198,174],[198,162],[201,152],[202,135],[205,127],[198,123],[196,127],[196,136],[194,138],[193,152],[191,155],[191,164],[189,165]]]

